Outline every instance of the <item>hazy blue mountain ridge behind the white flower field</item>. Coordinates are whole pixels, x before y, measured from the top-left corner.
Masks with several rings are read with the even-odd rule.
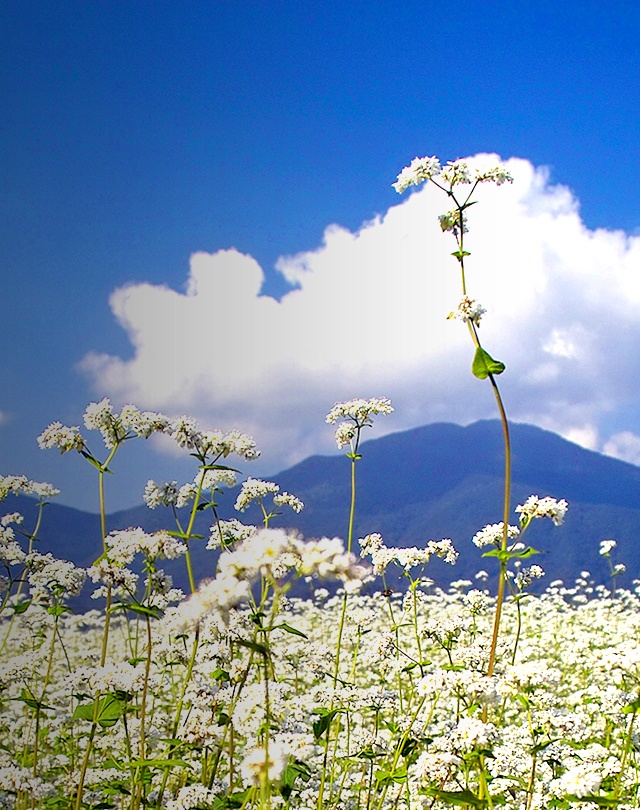
[[[526,424],[511,425],[512,512],[529,495],[565,498],[565,524],[535,521],[527,532],[529,544],[542,554],[535,558],[547,572],[546,582],[572,582],[588,570],[596,582],[606,582],[606,561],[599,554],[604,539],[618,541],[617,559],[627,565],[620,584],[640,577],[640,468],[585,450],[549,431]],[[460,557],[454,567],[430,564],[430,576],[440,583],[473,579],[478,570],[495,573],[495,563],[483,560],[472,543],[476,531],[502,520],[504,452],[497,420],[467,427],[448,423],[425,425],[361,445],[357,462],[355,538],[382,534],[387,545],[421,545],[450,537]],[[350,500],[350,462],[344,455],[312,456],[270,478],[301,498],[305,509],[286,510],[272,525],[296,528],[305,537],[345,538]],[[237,490],[221,497],[220,516],[260,523],[259,510],[239,515],[233,509]],[[7,505],[8,504],[8,505]],[[14,507],[33,518],[34,504],[21,498]],[[199,515],[196,530],[208,537],[209,513]],[[175,528],[169,510],[145,505],[108,516],[108,529],[142,526],[147,531]],[[96,515],[51,504],[41,531],[42,551],[90,564],[101,553]],[[214,562],[204,541],[192,541],[197,578],[211,576]],[[356,548],[357,550],[357,548]],[[177,584],[186,586],[183,566],[167,566]]]

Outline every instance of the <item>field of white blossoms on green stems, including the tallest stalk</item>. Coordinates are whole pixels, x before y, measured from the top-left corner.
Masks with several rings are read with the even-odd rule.
[[[238,460],[257,454],[250,437],[91,403],[84,427],[99,432],[105,458],[78,427],[54,422],[38,439],[43,449],[80,453],[97,475],[103,554],[88,570],[37,551],[44,506],[57,491],[0,476],[0,807],[639,806],[640,582],[616,588],[624,567],[609,540],[600,552],[610,587],[584,572],[530,593],[544,572],[532,564],[529,534],[538,519],[562,531],[568,504],[537,495],[510,503],[496,382],[504,365],[480,344],[485,310],[467,295],[463,243],[476,187],[509,180],[500,167],[474,173],[460,161],[442,169],[423,158],[395,184],[434,182],[455,204],[440,218],[462,275],[452,317],[469,329],[472,370],[491,383],[505,437],[503,519],[464,542],[499,569],[497,592],[484,588],[484,571],[447,591],[433,582],[432,557],[455,565],[465,553],[447,538],[394,548],[379,534],[353,536],[361,433],[393,410],[385,398],[339,403],[327,416],[351,476],[344,541],[279,529],[279,514],[304,504],[253,478],[236,508],[258,503],[263,524],[219,519],[221,487],[235,486]],[[149,481],[144,497],[165,510],[165,531],[107,534],[109,465],[125,444],[155,433],[194,457],[194,480]],[[10,511],[19,493],[40,503],[34,526]],[[208,537],[193,531],[202,511]],[[211,552],[208,580],[192,568],[195,543]],[[188,571],[188,594],[161,567],[175,558]],[[387,587],[391,569],[403,588]],[[300,581],[309,599],[295,595]],[[74,615],[69,599],[83,587],[96,608]]]

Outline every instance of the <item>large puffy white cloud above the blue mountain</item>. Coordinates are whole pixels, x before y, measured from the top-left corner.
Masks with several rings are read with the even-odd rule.
[[[638,459],[640,439],[612,444],[601,425],[640,404],[640,237],[589,230],[545,168],[507,165],[513,184],[478,189],[465,247],[469,295],[487,309],[483,344],[507,366],[508,415]],[[324,415],[343,399],[392,399],[376,435],[495,417],[490,384],[470,373],[467,329],[447,320],[461,297],[437,219],[448,207],[423,185],[355,233],[330,225],[316,250],[279,259],[292,285],[280,301],[260,295],[252,257],[195,253],[182,291],[115,290],[133,356],[89,354],[82,368],[115,401],[252,432],[272,469],[328,451]]]

